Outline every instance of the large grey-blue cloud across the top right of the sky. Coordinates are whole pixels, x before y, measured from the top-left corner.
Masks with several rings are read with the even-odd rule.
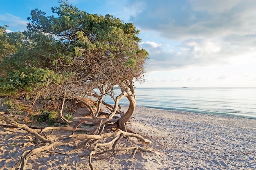
[[[130,6],[137,3],[129,1]],[[142,3],[144,2],[144,3]],[[144,0],[143,11],[130,21],[176,40],[255,33],[253,0]]]

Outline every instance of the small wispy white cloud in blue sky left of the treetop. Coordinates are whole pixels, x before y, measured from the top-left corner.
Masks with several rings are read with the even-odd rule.
[[[27,29],[28,21],[22,20],[20,17],[6,13],[0,15],[0,25],[8,25],[11,31],[24,31]]]

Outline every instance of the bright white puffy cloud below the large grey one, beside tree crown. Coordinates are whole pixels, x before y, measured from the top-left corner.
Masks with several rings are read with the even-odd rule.
[[[169,50],[166,51],[162,44],[149,41],[140,43],[140,46],[149,53],[147,72],[201,67],[213,63],[223,64],[231,55],[225,57],[220,55],[222,53],[221,45],[222,42],[218,39],[190,39],[175,47],[169,47]]]

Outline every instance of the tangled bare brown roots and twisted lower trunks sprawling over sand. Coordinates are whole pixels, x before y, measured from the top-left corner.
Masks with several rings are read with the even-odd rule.
[[[27,161],[31,156],[42,154],[44,151],[49,150],[50,148],[63,146],[63,145],[68,145],[72,149],[86,148],[87,150],[89,150],[90,153],[83,156],[88,156],[88,163],[91,170],[93,170],[92,159],[106,159],[119,151],[128,151],[128,150],[132,150],[131,157],[134,158],[135,154],[137,153],[137,150],[141,150],[143,152],[150,152],[152,150],[152,148],[144,148],[137,144],[137,141],[141,141],[146,144],[151,144],[151,141],[136,134],[135,132],[133,132],[132,130],[126,127],[126,124],[130,121],[131,115],[135,110],[135,104],[136,104],[135,95],[134,93],[132,93],[132,91],[122,91],[122,93],[116,97],[115,105],[111,106],[112,109],[110,113],[100,112],[99,108],[97,109],[97,112],[94,113],[90,105],[88,105],[83,100],[80,100],[82,104],[85,104],[86,106],[88,106],[88,108],[92,113],[92,117],[81,119],[80,121],[76,121],[76,122],[68,121],[63,117],[65,95],[66,95],[66,92],[63,97],[61,110],[59,112],[59,118],[61,122],[70,124],[70,127],[52,126],[52,127],[37,128],[33,126],[27,126],[26,124],[17,123],[16,121],[10,119],[6,114],[4,113],[0,114],[0,119],[2,119],[8,124],[8,125],[0,125],[0,126],[4,126],[7,128],[21,128],[23,130],[26,130],[29,134],[34,136],[39,141],[45,143],[44,146],[40,144],[41,146],[38,148],[34,148],[29,151],[26,150],[25,152],[23,152],[20,166],[19,166],[20,170],[26,170]],[[123,98],[124,96],[126,96],[129,99],[130,105],[126,113],[121,113],[121,110],[120,112],[117,111],[117,109],[119,108],[118,103],[120,99]],[[98,103],[99,106],[101,103],[103,103],[102,100],[100,100],[100,102]],[[115,116],[116,113],[119,113],[121,117]],[[131,123],[133,121],[134,119],[131,121]],[[79,127],[81,124],[87,124],[92,126],[81,128]],[[72,125],[74,126],[72,127]],[[47,138],[48,133],[46,132],[49,130],[52,130],[52,132],[53,130],[72,131],[72,134],[70,134],[64,139],[51,140],[49,139],[49,137]],[[75,132],[78,130],[88,132],[88,134],[75,134]],[[29,142],[31,142],[35,146],[38,146],[36,145],[37,142],[33,141],[34,138],[29,137],[28,135],[26,136],[29,138]],[[127,139],[128,137],[135,138],[136,142],[133,142],[132,144],[127,143],[127,145],[130,147],[126,147],[126,146],[121,147],[120,145],[122,141],[121,139],[123,138]],[[14,139],[15,138],[13,138],[13,140]],[[56,153],[62,154],[59,152],[56,152]]]

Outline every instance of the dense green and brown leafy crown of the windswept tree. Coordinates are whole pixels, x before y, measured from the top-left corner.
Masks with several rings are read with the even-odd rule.
[[[32,10],[27,31],[7,33],[0,27],[0,96],[25,92],[29,98],[34,91],[42,96],[51,89],[50,97],[63,94],[67,86],[90,94],[102,84],[143,80],[148,53],[139,48],[139,30],[132,23],[59,2],[52,16]]]

